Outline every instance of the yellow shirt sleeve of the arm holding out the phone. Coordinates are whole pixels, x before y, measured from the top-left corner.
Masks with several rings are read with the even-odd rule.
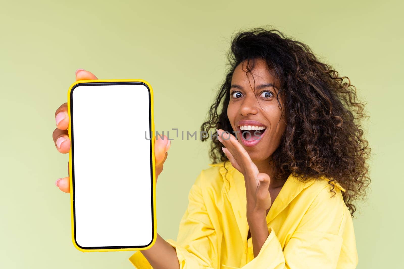
[[[214,269],[217,264],[217,237],[201,192],[201,174],[188,194],[188,206],[181,218],[177,241],[167,239],[175,247],[180,269]],[[137,269],[153,269],[140,251],[129,261]]]

